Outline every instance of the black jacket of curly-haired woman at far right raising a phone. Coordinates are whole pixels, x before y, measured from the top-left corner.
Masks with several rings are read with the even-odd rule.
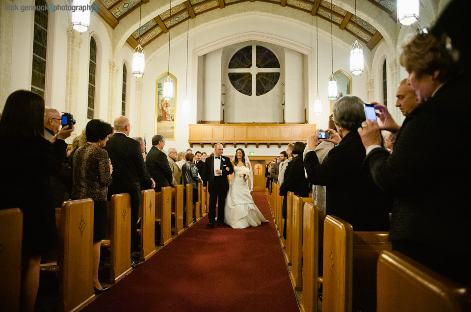
[[[470,80],[467,75],[450,78],[407,116],[391,155],[377,148],[365,159],[374,182],[394,197],[393,242],[408,240],[454,254],[471,250],[466,148],[471,145],[471,106],[462,94]]]

